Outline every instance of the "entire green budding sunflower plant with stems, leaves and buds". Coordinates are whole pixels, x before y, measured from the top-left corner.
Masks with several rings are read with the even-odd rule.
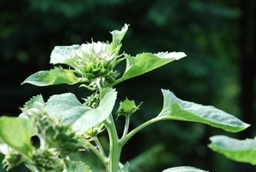
[[[7,170],[20,163],[32,171],[91,171],[86,162],[73,161],[69,154],[90,149],[102,161],[109,172],[128,171],[129,163],[119,162],[122,147],[146,126],[162,120],[181,120],[206,123],[230,132],[238,132],[249,125],[238,118],[216,109],[178,99],[170,90],[162,89],[164,98],[160,113],[129,131],[130,118],[142,105],[125,99],[117,112],[113,106],[118,83],[137,77],[173,60],[186,56],[184,53],[142,53],[136,56],[119,54],[121,41],[128,30],[111,32],[111,43],[85,43],[82,45],[56,46],[50,55],[50,63],[62,64],[50,71],[41,71],[27,77],[24,83],[48,86],[61,83],[80,83],[80,88],[90,89],[92,94],[81,103],[72,93],[52,95],[44,101],[42,95],[32,97],[21,108],[18,118],[0,118],[0,151],[5,155],[3,166]],[[119,77],[114,67],[126,60],[125,72]],[[116,117],[114,117],[116,116]],[[115,120],[125,117],[124,131],[119,137]],[[115,120],[114,120],[115,119]],[[108,131],[109,152],[102,148],[99,135]],[[37,135],[40,146],[32,145],[31,137]],[[164,170],[203,171],[192,167],[176,167]]]

